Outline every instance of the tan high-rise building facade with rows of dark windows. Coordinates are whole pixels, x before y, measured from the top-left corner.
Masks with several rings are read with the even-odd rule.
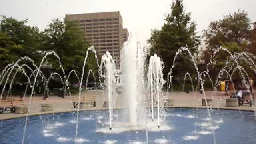
[[[101,57],[106,51],[116,59],[120,67],[120,50],[128,39],[128,30],[123,28],[120,12],[67,14],[67,21],[78,22],[80,30]]]

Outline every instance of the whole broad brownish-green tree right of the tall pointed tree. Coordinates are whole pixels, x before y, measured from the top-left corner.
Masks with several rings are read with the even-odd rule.
[[[235,52],[248,51],[251,41],[250,20],[248,14],[238,10],[234,14],[228,14],[223,19],[211,22],[207,30],[204,30],[206,50],[203,59],[206,63],[218,47],[228,49],[232,54]],[[218,52],[210,66],[210,75],[216,77],[229,58],[228,52]]]

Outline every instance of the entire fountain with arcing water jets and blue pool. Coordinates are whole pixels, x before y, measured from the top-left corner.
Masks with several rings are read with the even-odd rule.
[[[218,72],[218,77],[214,79],[210,77],[210,68],[208,66],[214,64],[213,58],[220,50],[228,52],[230,58]],[[92,70],[89,70],[88,75],[84,76],[89,52],[94,52],[95,54],[98,77]],[[219,78],[224,73],[227,74],[235,90],[232,76],[237,70],[244,81],[250,80],[248,73],[240,66],[238,59],[242,58],[245,62],[248,62],[250,68],[255,72],[255,56],[249,53],[232,54],[225,48],[218,48],[211,57],[211,61],[207,64],[206,70],[200,72],[189,48],[183,47],[174,56],[173,65],[170,68],[166,82],[162,72],[164,63],[161,58],[154,54],[147,61],[146,52],[146,48],[137,42],[134,34],[131,34],[128,42],[124,44],[124,48],[121,50],[120,69],[116,68],[116,60],[113,59],[109,52],[106,52],[101,57],[101,63],[99,64],[93,46],[86,51],[80,76],[75,70],[66,72],[61,64],[60,57],[53,51],[38,52],[42,54],[39,66],[29,57],[23,57],[15,63],[8,64],[0,73],[0,85],[3,84],[1,98],[4,91],[8,91],[7,97],[12,96],[12,85],[18,72],[24,74],[27,80],[23,99],[25,100],[29,88],[31,88],[31,92],[28,98],[28,113],[22,115],[25,116],[24,118],[1,121],[0,135],[3,140],[1,139],[0,144],[36,142],[38,144],[183,144],[186,142],[191,144],[222,144],[223,142],[237,142],[233,137],[238,138],[242,143],[255,143],[255,107],[252,108],[254,114],[242,110],[239,112],[220,110],[219,105],[218,109],[211,108],[206,100],[208,95],[204,89],[203,79],[208,78],[211,82],[214,92],[211,95],[212,98],[218,95]],[[200,106],[196,106],[196,104],[194,108],[170,108],[175,106],[164,106],[166,98],[179,96],[176,92],[169,92],[169,89],[173,91],[172,81],[175,75],[172,72],[176,67],[175,62],[178,56],[183,52],[188,54],[191,64],[196,70],[197,88],[200,87],[202,94],[198,93],[197,88],[194,89],[192,79],[194,75],[190,75],[190,73],[185,74],[181,87],[184,90],[186,77],[189,76],[192,84],[192,94],[198,94],[196,98],[200,100],[204,98],[206,107],[203,108],[205,109],[198,108]],[[46,78],[47,75],[44,75],[41,68],[49,55],[54,55],[57,58],[61,72],[52,72]],[[21,65],[20,63],[23,60],[28,60],[32,67],[26,64]],[[229,64],[232,66],[230,67]],[[35,88],[39,87],[38,83],[43,84],[42,89],[44,91],[42,96],[49,92],[48,83],[53,76],[57,76],[63,84],[64,90],[68,90],[71,74],[74,74],[79,83],[78,100],[84,94],[90,95],[90,92],[97,92],[98,99],[103,99],[108,103],[107,110],[102,106],[84,110],[80,108],[78,101],[77,108],[68,109],[67,112],[54,112],[54,114],[49,112],[46,115],[31,116],[31,114],[34,114],[32,110],[36,109],[32,96],[38,96],[35,91]],[[85,83],[87,86],[90,74],[94,78],[94,84],[98,80],[100,86],[106,89],[82,91],[82,84]],[[8,84],[9,88],[6,90],[6,85]],[[164,84],[167,84],[167,91],[164,91]],[[118,87],[122,87],[123,91],[118,93]],[[248,85],[249,87],[252,86]],[[181,93],[180,96],[183,96],[183,94]],[[254,94],[253,91],[252,94]],[[72,96],[74,94],[69,92],[68,95]],[[196,102],[198,103],[198,100]],[[65,104],[70,103],[67,102]],[[237,131],[232,130],[234,125]],[[244,126],[249,127],[244,129]],[[17,132],[20,129],[23,130],[22,133]],[[224,136],[227,133],[232,133],[232,136]]]

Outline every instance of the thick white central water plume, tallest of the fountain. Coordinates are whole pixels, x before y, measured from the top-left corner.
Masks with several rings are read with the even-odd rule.
[[[130,36],[121,51],[121,72],[124,82],[124,106],[128,108],[131,126],[145,120],[144,109],[144,61],[145,52],[134,36]]]

